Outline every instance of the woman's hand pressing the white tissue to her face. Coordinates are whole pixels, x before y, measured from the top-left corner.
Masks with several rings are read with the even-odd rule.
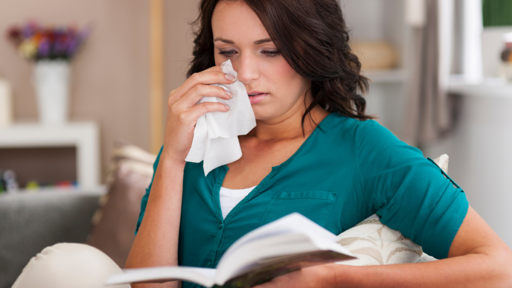
[[[220,102],[196,103],[204,96],[231,99],[231,92],[210,84],[232,84],[234,80],[234,76],[224,74],[220,66],[214,66],[193,74],[170,92],[162,156],[178,163],[185,162],[199,117],[208,112],[229,111],[229,107]]]

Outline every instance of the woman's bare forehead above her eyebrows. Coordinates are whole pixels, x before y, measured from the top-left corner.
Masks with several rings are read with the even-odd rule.
[[[268,38],[258,15],[243,1],[220,1],[211,17],[214,38],[222,37],[239,42]]]

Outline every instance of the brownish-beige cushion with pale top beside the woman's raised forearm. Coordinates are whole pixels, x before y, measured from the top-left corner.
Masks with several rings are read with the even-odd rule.
[[[109,192],[93,216],[88,243],[123,267],[135,239],[140,202],[153,176],[156,155],[133,145],[114,150]]]

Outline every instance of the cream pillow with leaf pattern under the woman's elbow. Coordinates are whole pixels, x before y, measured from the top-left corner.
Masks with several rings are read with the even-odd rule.
[[[444,173],[448,173],[446,154],[434,159]],[[419,263],[437,260],[421,250],[421,246],[404,237],[399,231],[380,223],[374,214],[353,228],[339,234],[337,242],[347,248],[358,259],[337,262],[352,266]]]

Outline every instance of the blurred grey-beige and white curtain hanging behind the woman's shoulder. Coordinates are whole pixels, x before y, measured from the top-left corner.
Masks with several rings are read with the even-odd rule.
[[[455,9],[457,1],[463,9]],[[466,82],[481,81],[480,1],[406,2],[414,51],[402,137],[409,145],[421,147],[452,129],[457,111],[456,98],[448,92],[453,71]]]

